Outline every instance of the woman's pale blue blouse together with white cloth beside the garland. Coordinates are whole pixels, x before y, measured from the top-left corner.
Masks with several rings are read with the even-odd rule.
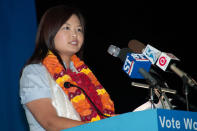
[[[72,62],[70,63],[70,69],[76,71]],[[68,96],[42,64],[30,64],[24,68],[20,79],[20,98],[30,131],[45,131],[25,105],[40,98],[52,99],[52,105],[55,107],[58,116],[81,120]]]

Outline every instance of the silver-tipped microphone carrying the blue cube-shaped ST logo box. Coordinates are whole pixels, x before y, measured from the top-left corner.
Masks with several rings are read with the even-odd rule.
[[[133,45],[135,43],[136,40],[131,40],[129,45]],[[140,46],[144,47],[143,44]],[[138,52],[136,49],[134,49],[135,52]],[[148,72],[151,67],[151,62],[146,58],[146,56],[139,53],[133,53],[132,49],[130,48],[120,49],[117,46],[110,45],[107,52],[114,57],[120,58],[124,62],[122,69],[126,74],[129,75],[130,78],[144,79],[144,77],[139,73],[139,68],[143,68]]]

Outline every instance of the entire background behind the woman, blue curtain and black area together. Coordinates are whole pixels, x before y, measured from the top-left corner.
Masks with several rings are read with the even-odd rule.
[[[180,69],[197,80],[196,4],[190,1],[76,1],[76,0],[0,0],[0,102],[3,131],[28,131],[19,97],[20,71],[35,47],[35,35],[41,16],[57,4],[77,6],[85,16],[85,62],[92,69],[115,103],[116,113],[130,112],[149,99],[147,89],[132,87],[121,62],[107,53],[110,44],[120,48],[137,39],[181,59]],[[35,9],[36,7],[36,9]],[[37,22],[37,23],[36,23]],[[184,98],[181,79],[173,73],[157,70]],[[189,88],[190,111],[197,111],[197,91]],[[186,110],[176,95],[175,109]]]

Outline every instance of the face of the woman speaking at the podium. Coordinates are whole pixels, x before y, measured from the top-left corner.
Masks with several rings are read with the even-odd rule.
[[[79,18],[73,14],[57,32],[54,38],[55,49],[62,57],[72,56],[80,50],[83,40],[82,25]]]

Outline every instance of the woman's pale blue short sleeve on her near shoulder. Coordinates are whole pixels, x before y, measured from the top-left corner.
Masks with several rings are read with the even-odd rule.
[[[46,72],[47,70],[42,64],[30,64],[24,68],[19,93],[22,104],[40,98],[51,98]]]

